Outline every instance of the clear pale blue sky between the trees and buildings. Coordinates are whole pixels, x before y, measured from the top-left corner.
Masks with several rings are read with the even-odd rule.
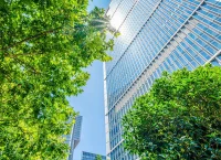
[[[94,7],[107,8],[110,0],[93,0],[88,10]],[[104,122],[104,77],[103,63],[95,61],[86,70],[91,74],[84,93],[69,98],[75,111],[83,116],[81,141],[74,150],[74,160],[81,160],[82,151],[106,154]]]

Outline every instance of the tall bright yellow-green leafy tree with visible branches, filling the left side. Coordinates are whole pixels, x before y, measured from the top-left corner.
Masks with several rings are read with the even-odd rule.
[[[62,135],[76,116],[66,96],[82,93],[90,77],[83,68],[110,60],[113,47],[90,24],[96,12],[87,4],[0,1],[0,160],[66,159]]]

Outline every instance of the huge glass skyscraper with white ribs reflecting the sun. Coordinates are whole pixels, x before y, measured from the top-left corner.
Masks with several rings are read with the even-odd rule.
[[[135,160],[122,117],[162,71],[221,65],[221,0],[112,0],[106,14],[120,32],[104,64],[107,157]]]

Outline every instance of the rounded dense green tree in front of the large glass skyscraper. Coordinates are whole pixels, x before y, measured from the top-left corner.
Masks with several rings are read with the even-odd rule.
[[[221,158],[221,67],[164,73],[123,118],[125,149],[146,159]]]

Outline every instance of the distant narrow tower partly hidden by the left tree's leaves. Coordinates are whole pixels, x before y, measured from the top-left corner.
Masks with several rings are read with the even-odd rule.
[[[81,130],[82,130],[82,116],[77,116],[75,118],[75,124],[72,127],[72,131],[70,135],[66,135],[66,143],[70,146],[70,154],[67,160],[73,160],[74,149],[78,145],[81,140]]]

